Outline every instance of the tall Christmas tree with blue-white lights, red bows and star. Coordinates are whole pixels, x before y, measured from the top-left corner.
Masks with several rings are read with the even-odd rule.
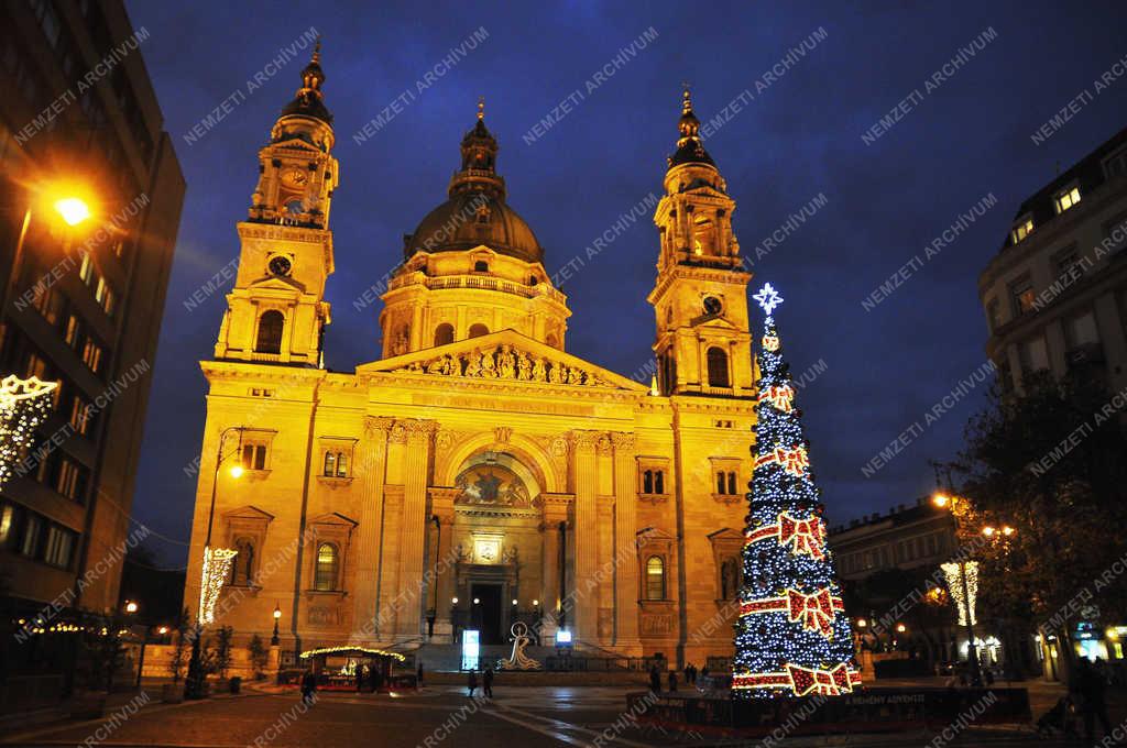
[[[861,682],[801,412],[772,312],[782,299],[763,286],[755,469],[736,620],[737,698],[837,695]]]

